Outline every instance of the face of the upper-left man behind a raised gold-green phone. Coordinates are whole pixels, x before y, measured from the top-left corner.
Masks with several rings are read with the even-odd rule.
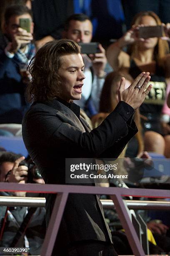
[[[5,34],[7,37],[12,40],[13,37],[18,33],[18,28],[20,27],[20,19],[30,19],[31,21],[31,26],[30,26],[30,33],[33,33],[33,23],[32,23],[32,18],[29,13],[25,13],[20,16],[13,15],[10,17],[9,21],[7,24],[5,24],[4,29],[5,29]]]

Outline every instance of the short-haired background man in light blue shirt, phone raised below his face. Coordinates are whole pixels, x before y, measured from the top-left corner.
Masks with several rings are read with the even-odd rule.
[[[92,40],[92,23],[90,18],[83,14],[73,14],[65,22],[63,38],[74,40],[76,43],[90,43]],[[98,112],[100,92],[105,80],[105,66],[107,63],[105,49],[99,44],[99,53],[83,54],[86,77],[81,100],[75,101],[88,115]]]

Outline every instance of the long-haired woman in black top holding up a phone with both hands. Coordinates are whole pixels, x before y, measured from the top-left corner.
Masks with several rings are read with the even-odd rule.
[[[107,59],[114,70],[125,69],[133,78],[148,70],[153,85],[150,94],[140,106],[146,151],[169,155],[170,125],[161,124],[161,111],[165,102],[166,87],[170,78],[170,54],[166,40],[158,37],[140,38],[140,27],[159,26],[160,18],[151,11],[138,13],[132,28],[107,49]],[[165,26],[168,31],[168,24]],[[165,39],[165,38],[164,38]],[[166,38],[167,39],[167,38]],[[128,52],[122,48],[129,46]]]

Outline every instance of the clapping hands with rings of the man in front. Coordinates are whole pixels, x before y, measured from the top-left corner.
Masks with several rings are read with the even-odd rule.
[[[134,82],[125,89],[125,78],[122,77],[118,90],[119,101],[125,101],[134,109],[139,108],[152,88],[151,84],[148,86],[149,80],[149,72],[142,72],[135,78]]]

